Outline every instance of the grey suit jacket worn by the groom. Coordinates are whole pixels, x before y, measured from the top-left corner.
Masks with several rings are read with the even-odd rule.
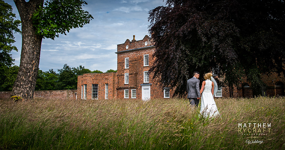
[[[187,98],[198,98],[201,97],[200,88],[199,88],[200,80],[193,77],[187,80]]]

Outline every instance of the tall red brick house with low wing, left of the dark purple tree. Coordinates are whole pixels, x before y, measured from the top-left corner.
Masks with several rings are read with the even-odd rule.
[[[117,45],[117,72],[87,73],[78,76],[77,93],[82,99],[170,98],[172,91],[161,89],[149,74],[155,58],[154,43],[146,35],[142,40],[127,39]]]

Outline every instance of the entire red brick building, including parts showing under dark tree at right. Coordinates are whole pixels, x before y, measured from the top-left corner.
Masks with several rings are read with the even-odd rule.
[[[173,91],[161,89],[148,73],[154,63],[154,42],[146,35],[142,40],[127,39],[123,44],[117,45],[117,72],[87,73],[78,76],[77,94],[81,99],[151,99],[171,98]],[[285,78],[262,75],[267,84],[268,96],[284,96]],[[203,81],[203,78],[200,78]],[[186,82],[186,81],[185,81]],[[186,89],[185,89],[186,90]],[[215,97],[252,97],[251,83],[246,79],[238,87],[220,88]]]

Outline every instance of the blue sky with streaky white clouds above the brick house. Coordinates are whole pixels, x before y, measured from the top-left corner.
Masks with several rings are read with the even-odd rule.
[[[16,19],[19,13],[13,0],[4,0],[12,5]],[[82,28],[71,29],[67,35],[59,35],[55,40],[42,41],[39,68],[42,71],[84,66],[87,69],[106,72],[117,70],[117,45],[127,39],[141,40],[148,33],[148,12],[157,6],[165,5],[163,0],[85,0],[93,20]],[[21,26],[19,27],[21,29]],[[14,34],[18,52],[12,51],[14,64],[19,66],[21,56],[21,35]]]

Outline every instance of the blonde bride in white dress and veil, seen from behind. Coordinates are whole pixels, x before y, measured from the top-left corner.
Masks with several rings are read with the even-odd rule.
[[[205,74],[204,78],[206,81],[203,81],[200,90],[201,93],[200,114],[202,114],[204,117],[209,116],[209,118],[219,115],[217,105],[213,98],[215,95],[214,93],[216,93],[218,90],[218,86],[217,82],[212,76],[213,74],[211,72]]]

